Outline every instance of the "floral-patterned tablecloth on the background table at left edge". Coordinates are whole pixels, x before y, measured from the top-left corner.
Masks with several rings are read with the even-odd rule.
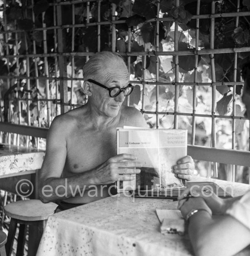
[[[5,145],[0,148],[0,178],[40,169],[44,156],[43,150]]]

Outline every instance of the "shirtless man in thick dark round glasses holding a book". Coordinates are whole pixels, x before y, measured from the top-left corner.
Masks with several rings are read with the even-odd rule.
[[[139,110],[122,105],[133,86],[120,55],[96,53],[83,72],[88,102],[56,116],[51,123],[39,177],[40,199],[45,203],[60,200],[69,208],[108,197],[111,184],[131,180],[131,174],[140,172],[141,163],[135,156],[116,155],[116,127],[148,127]],[[118,88],[111,91],[113,87]],[[186,156],[174,172],[189,180],[193,169],[193,159]],[[94,186],[97,193],[90,196],[87,191]],[[85,193],[80,194],[79,189]],[[72,191],[77,193],[72,195]]]

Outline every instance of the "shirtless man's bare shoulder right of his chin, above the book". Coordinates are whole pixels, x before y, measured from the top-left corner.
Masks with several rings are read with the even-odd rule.
[[[122,105],[122,107],[121,107],[121,117],[126,122],[129,122],[128,125],[137,126],[137,127],[144,127],[144,128],[148,127],[148,125],[146,124],[145,118],[141,114],[140,110],[137,110],[134,107],[128,107],[128,106]]]

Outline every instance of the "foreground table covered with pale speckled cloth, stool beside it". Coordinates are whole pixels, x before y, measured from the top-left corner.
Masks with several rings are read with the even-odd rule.
[[[206,179],[234,196],[250,185]],[[229,188],[230,189],[230,188]],[[227,189],[228,190],[228,189]],[[50,216],[37,256],[190,256],[187,236],[160,234],[155,209],[176,209],[167,199],[133,199],[120,194]],[[250,248],[239,256],[250,255]]]

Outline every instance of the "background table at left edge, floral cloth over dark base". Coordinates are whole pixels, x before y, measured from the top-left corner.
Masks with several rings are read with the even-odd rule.
[[[41,168],[44,156],[44,150],[35,148],[12,145],[0,148],[0,189],[16,193],[15,185],[21,179],[35,183],[35,173]]]

